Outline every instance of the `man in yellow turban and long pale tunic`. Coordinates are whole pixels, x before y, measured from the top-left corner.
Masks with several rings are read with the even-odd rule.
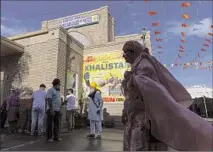
[[[98,136],[97,139],[101,139],[102,133],[102,120],[103,120],[103,99],[101,97],[101,91],[97,89],[97,84],[92,82],[90,84],[90,94],[88,104],[88,119],[90,120],[90,134],[89,138],[95,137],[95,127],[97,127]]]

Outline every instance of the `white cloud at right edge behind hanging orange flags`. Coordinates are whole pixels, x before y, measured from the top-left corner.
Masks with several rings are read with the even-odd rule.
[[[173,33],[176,35],[180,35],[181,32],[184,32],[187,36],[198,36],[205,37],[209,32],[212,32],[210,28],[212,25],[211,18],[205,18],[200,20],[199,22],[191,22],[188,25],[190,27],[182,27],[181,24],[183,22],[179,21],[170,21],[167,23],[167,33]]]

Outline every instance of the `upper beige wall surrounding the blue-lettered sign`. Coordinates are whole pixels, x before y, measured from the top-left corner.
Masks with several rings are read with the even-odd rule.
[[[109,39],[112,39],[112,38],[109,38],[108,27],[110,24],[109,18],[111,19],[111,17],[109,17],[109,10],[107,6],[100,7],[99,9],[95,9],[92,11],[75,14],[74,16],[92,16],[92,15],[99,15],[99,23],[68,29],[68,32],[71,35],[73,32],[78,32],[80,34],[83,34],[89,40],[90,45],[98,45],[98,44],[108,42]],[[49,21],[43,21],[42,29],[51,29],[51,28],[59,27],[62,20],[66,17],[49,20]]]

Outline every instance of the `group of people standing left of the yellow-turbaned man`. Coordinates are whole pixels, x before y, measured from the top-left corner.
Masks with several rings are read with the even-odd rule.
[[[28,131],[30,135],[41,136],[44,133],[44,121],[46,114],[46,135],[47,141],[60,141],[60,108],[61,104],[66,104],[66,121],[68,132],[74,130],[74,114],[76,109],[76,97],[73,89],[68,89],[65,101],[60,95],[60,79],[56,78],[52,82],[52,88],[45,91],[46,86],[41,84],[37,91],[32,94],[31,102],[26,104],[25,123],[22,132]],[[1,107],[1,128],[5,126],[6,120],[9,123],[9,133],[18,132],[18,120],[20,118],[19,90],[12,88],[11,95],[6,98]]]

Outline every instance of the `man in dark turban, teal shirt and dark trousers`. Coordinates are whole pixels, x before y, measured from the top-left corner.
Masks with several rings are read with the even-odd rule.
[[[60,126],[60,79],[55,78],[53,87],[47,91],[47,141],[61,141],[58,136]],[[53,125],[53,126],[52,126]]]

